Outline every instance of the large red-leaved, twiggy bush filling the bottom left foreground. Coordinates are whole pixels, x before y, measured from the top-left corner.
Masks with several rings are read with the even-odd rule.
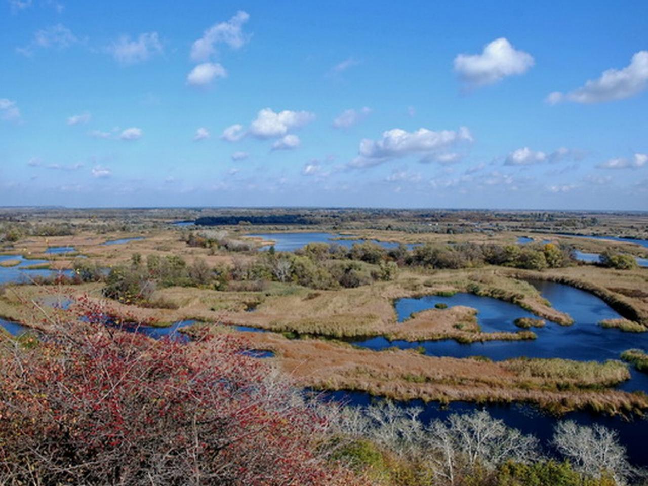
[[[353,484],[318,447],[326,419],[244,342],[154,341],[84,315],[0,340],[0,483]]]

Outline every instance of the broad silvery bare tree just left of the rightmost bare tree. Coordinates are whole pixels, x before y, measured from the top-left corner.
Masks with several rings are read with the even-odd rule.
[[[481,465],[494,469],[505,461],[529,462],[538,457],[538,439],[508,427],[487,411],[453,414],[425,430],[428,460],[440,478],[454,485],[457,471]]]

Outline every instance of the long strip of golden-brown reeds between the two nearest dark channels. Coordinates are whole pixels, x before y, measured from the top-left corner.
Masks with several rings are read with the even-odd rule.
[[[277,354],[277,363],[299,384],[357,390],[397,400],[529,402],[557,413],[577,409],[627,413],[648,408],[648,397],[605,387],[629,378],[619,362],[437,358],[413,351],[369,351],[323,340],[287,340],[245,332],[255,349]]]

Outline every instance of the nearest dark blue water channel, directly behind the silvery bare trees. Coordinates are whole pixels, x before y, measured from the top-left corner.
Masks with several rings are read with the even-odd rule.
[[[367,406],[375,402],[374,397],[367,393],[354,391],[335,391],[323,393],[323,400],[334,400],[350,406]],[[587,411],[573,411],[566,413],[560,419],[544,413],[538,408],[525,404],[489,404],[478,405],[468,402],[452,402],[442,406],[436,402],[425,404],[421,400],[400,402],[402,406],[419,406],[423,409],[419,416],[424,424],[435,420],[445,420],[452,413],[470,413],[474,410],[487,410],[492,417],[500,419],[509,427],[516,428],[524,434],[533,434],[540,440],[544,452],[556,456],[557,452],[551,446],[553,428],[561,420],[573,420],[581,425],[601,424],[616,430],[619,439],[627,447],[628,456],[632,463],[645,466],[648,464],[648,448],[645,447],[645,437],[648,434],[648,421],[642,417],[626,420],[621,417],[609,417],[589,413]]]

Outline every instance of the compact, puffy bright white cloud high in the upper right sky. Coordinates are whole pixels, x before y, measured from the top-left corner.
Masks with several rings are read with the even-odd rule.
[[[505,38],[487,44],[481,54],[459,54],[454,70],[468,86],[482,86],[507,76],[522,75],[535,63],[528,52],[516,51]]]

